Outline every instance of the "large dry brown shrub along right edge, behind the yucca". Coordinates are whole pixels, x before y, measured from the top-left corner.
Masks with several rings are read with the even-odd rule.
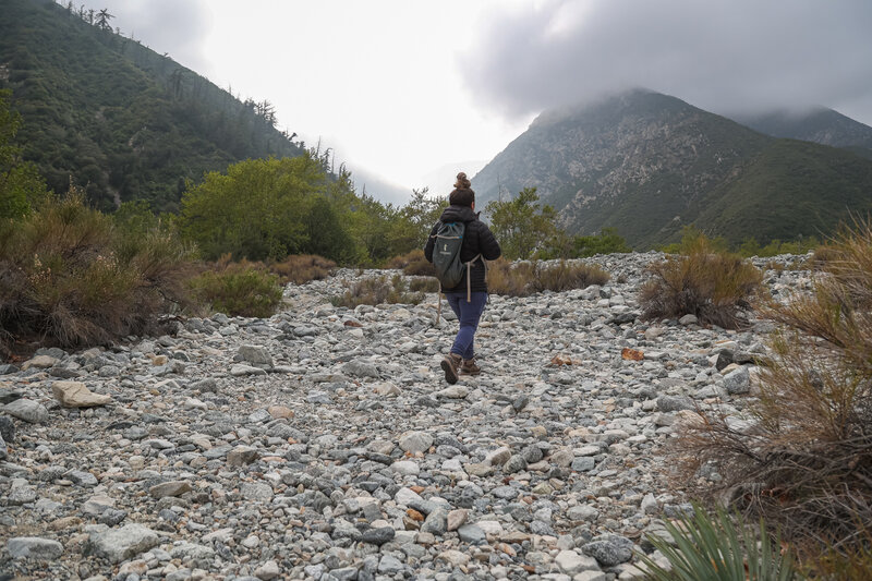
[[[698,493],[726,493],[794,540],[862,554],[869,534],[858,523],[872,522],[872,230],[845,231],[831,247],[812,293],[761,310],[785,329],[750,422],[708,413],[677,446],[689,471],[710,463],[724,479]]]

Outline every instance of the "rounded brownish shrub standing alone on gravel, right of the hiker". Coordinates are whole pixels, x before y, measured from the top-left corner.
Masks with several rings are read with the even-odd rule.
[[[649,266],[652,278],[639,292],[643,318],[695,315],[702,323],[725,328],[743,324],[751,299],[761,291],[763,275],[735,254],[714,252],[700,237],[685,246],[687,254],[668,256]]]

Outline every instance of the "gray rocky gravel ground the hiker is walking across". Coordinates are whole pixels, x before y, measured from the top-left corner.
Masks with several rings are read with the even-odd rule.
[[[484,373],[455,386],[436,295],[334,307],[378,274],[356,270],[269,319],[0,364],[0,579],[639,579],[645,535],[689,506],[664,443],[697,406],[742,417],[772,330],[641,322],[661,256],[492,295]],[[766,270],[776,296],[809,277]]]

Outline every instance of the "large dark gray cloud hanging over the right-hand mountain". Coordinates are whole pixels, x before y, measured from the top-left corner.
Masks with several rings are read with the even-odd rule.
[[[545,0],[493,19],[461,70],[516,117],[633,87],[716,112],[832,107],[872,124],[868,0]]]

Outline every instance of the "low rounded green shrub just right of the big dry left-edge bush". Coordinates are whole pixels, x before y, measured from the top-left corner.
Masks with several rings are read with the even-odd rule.
[[[251,263],[219,264],[192,279],[190,287],[213,310],[243,317],[269,317],[282,295],[279,277]]]

